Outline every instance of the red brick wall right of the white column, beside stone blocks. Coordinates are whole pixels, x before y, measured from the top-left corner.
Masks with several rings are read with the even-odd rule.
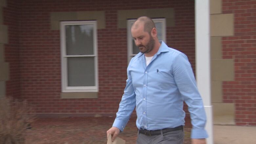
[[[223,82],[225,103],[235,103],[236,125],[256,125],[256,1],[223,0],[234,13],[234,36],[222,38],[223,58],[234,59],[234,81]]]

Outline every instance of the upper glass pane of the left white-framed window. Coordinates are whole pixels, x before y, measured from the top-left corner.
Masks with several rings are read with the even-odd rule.
[[[93,53],[93,25],[66,27],[67,55],[87,55]]]

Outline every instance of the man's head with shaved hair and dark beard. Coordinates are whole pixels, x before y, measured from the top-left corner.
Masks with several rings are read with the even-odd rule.
[[[158,38],[155,23],[151,18],[146,16],[139,17],[134,22],[131,32],[140,52],[149,53],[154,49]]]

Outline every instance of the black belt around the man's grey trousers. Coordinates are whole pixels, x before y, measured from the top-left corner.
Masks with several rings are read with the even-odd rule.
[[[175,128],[166,128],[166,129],[162,129],[162,130],[155,130],[155,131],[149,131],[149,130],[139,130],[140,134],[145,134],[147,136],[152,136],[152,135],[159,135],[161,134],[161,131],[164,133],[167,132],[172,132],[172,131],[178,131],[178,130],[183,130],[183,126],[178,126]]]

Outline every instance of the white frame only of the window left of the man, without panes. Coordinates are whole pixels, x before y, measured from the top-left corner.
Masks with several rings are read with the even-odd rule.
[[[67,25],[93,25],[93,55],[67,55],[66,54],[66,29]],[[98,58],[97,58],[97,21],[62,21],[60,22],[60,47],[61,47],[61,91],[62,92],[98,92]],[[68,86],[68,57],[94,57],[95,61],[95,86]]]

